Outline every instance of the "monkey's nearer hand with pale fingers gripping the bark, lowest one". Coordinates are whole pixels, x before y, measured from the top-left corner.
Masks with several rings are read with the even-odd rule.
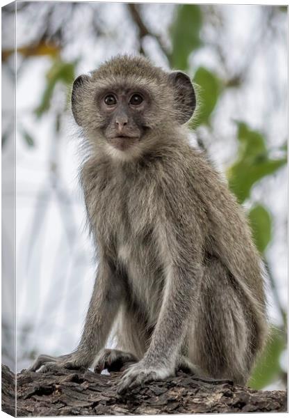
[[[144,385],[146,382],[152,380],[163,380],[170,376],[173,376],[169,369],[152,368],[147,367],[143,364],[143,361],[133,364],[129,369],[124,373],[120,383],[117,385],[117,394],[123,394],[127,390],[132,389],[138,385]]]

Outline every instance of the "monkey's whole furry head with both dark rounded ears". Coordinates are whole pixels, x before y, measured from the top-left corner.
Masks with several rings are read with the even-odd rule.
[[[73,84],[72,112],[86,136],[112,154],[139,155],[195,110],[184,72],[165,72],[142,56],[116,56]]]

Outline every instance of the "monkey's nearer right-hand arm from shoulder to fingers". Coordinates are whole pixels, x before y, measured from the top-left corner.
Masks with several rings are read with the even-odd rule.
[[[203,233],[191,212],[193,205],[184,202],[186,196],[175,196],[173,192],[167,198],[161,199],[156,227],[158,249],[165,262],[161,311],[149,349],[145,357],[125,373],[119,385],[120,393],[127,387],[175,373],[202,279]]]

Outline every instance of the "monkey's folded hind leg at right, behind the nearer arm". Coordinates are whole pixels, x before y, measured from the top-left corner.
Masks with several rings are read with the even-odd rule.
[[[243,385],[250,372],[248,301],[220,261],[206,265],[195,317],[190,359],[211,378]]]

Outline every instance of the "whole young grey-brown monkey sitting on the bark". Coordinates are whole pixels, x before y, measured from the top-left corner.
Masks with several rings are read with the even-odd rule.
[[[118,394],[178,369],[247,382],[268,329],[261,258],[227,182],[190,146],[196,104],[188,75],[143,56],[75,79],[97,276],[76,350],[31,370],[122,370]]]

